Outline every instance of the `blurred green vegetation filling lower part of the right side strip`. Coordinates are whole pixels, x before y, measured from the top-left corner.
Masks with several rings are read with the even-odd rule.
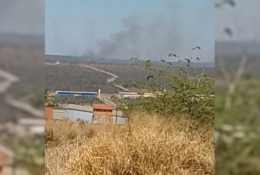
[[[220,175],[260,173],[260,79],[243,69],[230,71],[234,76],[215,99],[215,166]]]

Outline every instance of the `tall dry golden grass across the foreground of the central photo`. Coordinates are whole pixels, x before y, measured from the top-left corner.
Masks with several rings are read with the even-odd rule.
[[[213,126],[157,116],[130,123],[131,133],[128,125],[46,121],[45,174],[215,174]]]

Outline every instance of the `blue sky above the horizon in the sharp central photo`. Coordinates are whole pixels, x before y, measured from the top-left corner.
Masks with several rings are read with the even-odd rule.
[[[213,0],[45,0],[45,54],[83,56],[93,51],[103,53],[102,56],[109,52],[105,54],[109,58],[129,59],[129,54],[124,56],[126,51],[161,59],[173,52],[182,57],[202,55],[204,61],[214,61],[214,12]],[[122,21],[131,17],[131,26],[127,28]],[[128,35],[135,22],[140,31],[134,31],[138,35],[137,41],[130,45],[138,44],[139,47],[121,46],[131,36],[124,36],[122,43],[120,39],[111,38],[111,35],[116,35],[114,38]],[[176,42],[170,46],[175,38]],[[164,40],[169,44],[163,43]],[[118,48],[107,48],[110,43]],[[202,51],[194,55],[191,48],[197,45]]]

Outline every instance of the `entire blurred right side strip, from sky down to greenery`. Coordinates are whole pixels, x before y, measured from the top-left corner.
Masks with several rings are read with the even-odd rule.
[[[218,0],[215,5],[217,175],[260,174],[258,5],[257,0]]]

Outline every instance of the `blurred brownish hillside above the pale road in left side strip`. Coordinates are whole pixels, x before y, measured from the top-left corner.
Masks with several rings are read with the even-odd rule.
[[[11,37],[9,40],[4,40],[2,36],[0,35],[0,69],[20,79],[8,92],[16,99],[42,108],[45,84],[42,79],[44,76],[44,47],[41,47],[40,42],[42,39],[10,35],[13,39]]]

